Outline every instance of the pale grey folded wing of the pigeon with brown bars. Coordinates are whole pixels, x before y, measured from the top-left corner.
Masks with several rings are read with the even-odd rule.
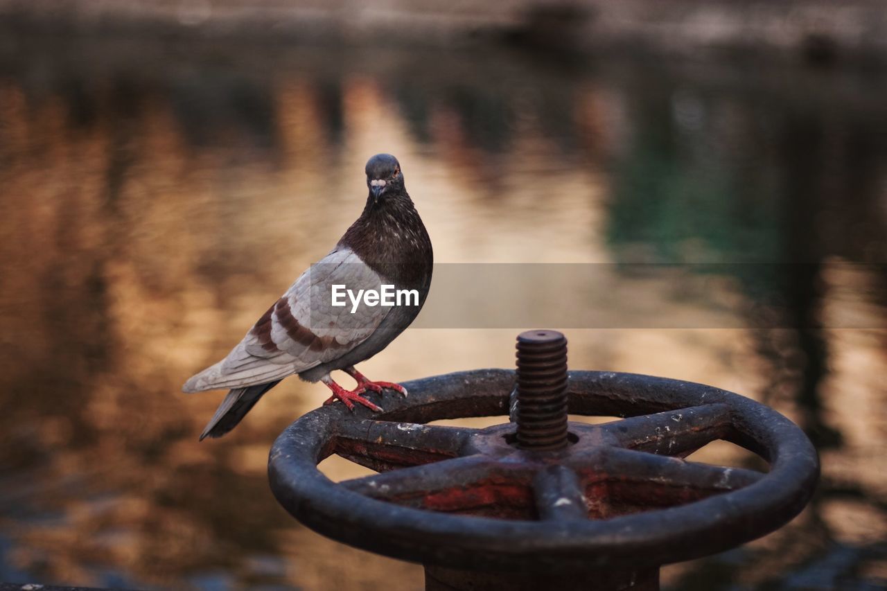
[[[340,358],[379,327],[390,307],[361,304],[347,296],[333,305],[332,288],[381,289],[381,277],[349,248],[336,248],[311,265],[243,340],[215,366],[194,375],[183,390],[240,388],[298,374]]]

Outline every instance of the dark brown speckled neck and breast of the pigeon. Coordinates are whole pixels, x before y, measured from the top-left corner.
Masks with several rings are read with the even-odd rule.
[[[379,201],[371,195],[339,244],[398,285],[421,287],[426,277],[430,279],[431,240],[405,192],[385,195]]]

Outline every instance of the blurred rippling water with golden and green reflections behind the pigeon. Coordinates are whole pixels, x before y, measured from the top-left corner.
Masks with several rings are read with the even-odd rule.
[[[883,274],[825,265],[885,262],[882,81],[493,49],[5,36],[0,579],[420,587],[419,567],[319,538],[271,498],[267,449],[322,389],[281,385],[209,445],[196,436],[218,397],[178,393],[356,217],[379,151],[404,162],[441,261],[806,263],[718,276],[737,303],[725,326],[746,329],[570,331],[571,365],[739,391],[820,446],[824,482],[804,515],[666,582],[887,578],[887,332],[820,328],[884,326]],[[668,281],[611,281],[663,314],[696,305]],[[787,328],[762,317],[773,294]],[[511,366],[513,337],[411,330],[364,369]],[[703,457],[747,461],[729,447]]]

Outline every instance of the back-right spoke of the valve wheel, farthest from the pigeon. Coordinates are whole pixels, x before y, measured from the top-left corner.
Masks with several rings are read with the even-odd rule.
[[[733,425],[729,406],[710,404],[633,416],[600,425],[600,429],[622,447],[683,457],[715,439],[729,437]]]

